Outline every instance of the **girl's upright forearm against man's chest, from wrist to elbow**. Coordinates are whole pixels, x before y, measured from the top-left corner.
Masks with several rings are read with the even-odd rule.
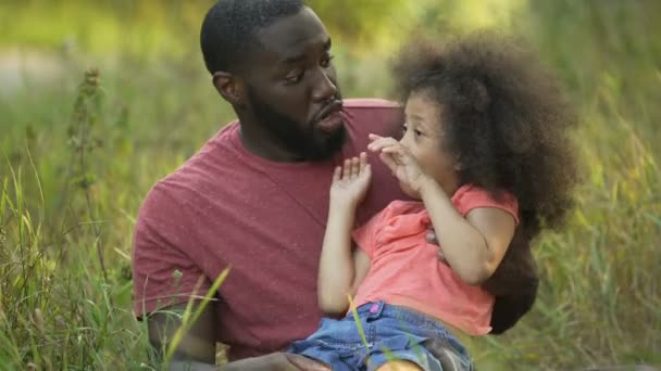
[[[322,311],[339,314],[347,310],[347,294],[353,284],[351,230],[356,207],[330,203],[328,221],[319,268],[319,305]]]

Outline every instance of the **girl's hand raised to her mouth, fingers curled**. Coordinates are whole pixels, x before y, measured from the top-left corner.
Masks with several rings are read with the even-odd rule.
[[[392,171],[392,175],[402,184],[420,194],[420,190],[423,183],[428,180],[428,177],[411,152],[400,142],[389,137],[384,138],[371,133],[370,140],[372,142],[367,145],[367,149],[373,152],[381,152],[381,159]]]

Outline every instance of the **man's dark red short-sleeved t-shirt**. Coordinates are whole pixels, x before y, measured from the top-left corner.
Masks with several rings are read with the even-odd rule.
[[[204,295],[230,266],[217,305],[217,341],[230,346],[229,359],[279,350],[310,335],[322,317],[316,278],[333,169],[366,151],[367,133],[392,135],[401,123],[400,108],[382,100],[347,100],[344,111],[348,141],[330,161],[258,157],[233,123],[159,181],[136,223],[136,315]],[[381,161],[370,162],[372,189],[357,226],[404,197]]]

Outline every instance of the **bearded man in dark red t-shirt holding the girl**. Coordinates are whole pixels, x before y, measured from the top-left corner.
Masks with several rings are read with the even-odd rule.
[[[341,100],[330,37],[300,0],[222,0],[200,39],[238,121],[145,200],[134,240],[136,314],[160,348],[180,324],[166,311],[203,296],[230,268],[173,364],[213,363],[219,341],[230,361],[244,359],[228,369],[314,369],[273,351],[307,337],[322,316],[316,276],[333,168],[364,151],[370,132],[391,136],[400,110]],[[373,187],[357,225],[403,197],[381,162],[371,163]]]

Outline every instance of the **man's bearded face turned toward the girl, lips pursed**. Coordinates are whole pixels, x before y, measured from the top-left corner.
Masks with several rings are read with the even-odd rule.
[[[346,129],[330,55],[330,37],[309,8],[258,33],[242,79],[247,108],[257,124],[303,159],[328,158],[342,146]]]

